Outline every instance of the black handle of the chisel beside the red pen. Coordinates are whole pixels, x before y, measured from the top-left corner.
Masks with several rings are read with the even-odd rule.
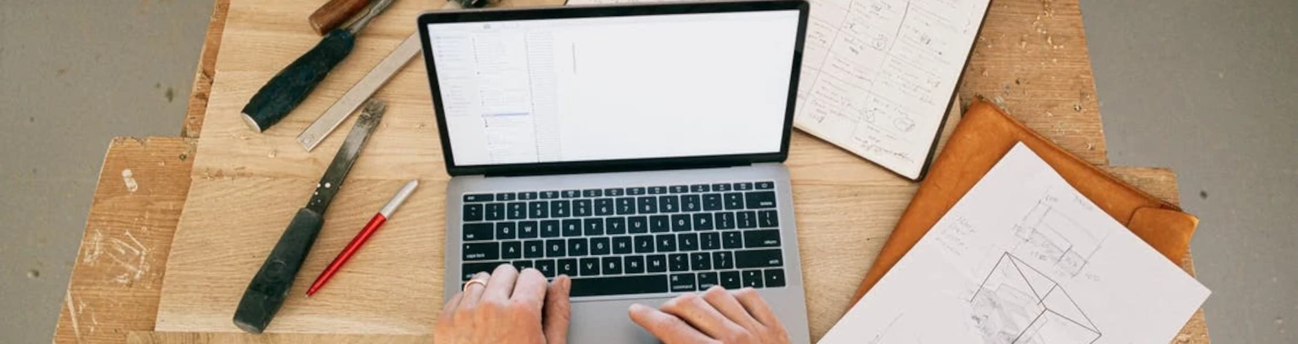
[[[249,334],[261,334],[270,319],[279,312],[293,286],[293,276],[302,267],[306,253],[312,251],[315,236],[324,226],[324,217],[312,209],[299,209],[288,228],[279,236],[279,243],[270,251],[261,270],[248,283],[244,296],[235,309],[235,326]]]

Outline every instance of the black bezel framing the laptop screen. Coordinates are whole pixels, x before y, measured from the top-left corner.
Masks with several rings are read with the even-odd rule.
[[[528,9],[478,9],[478,10],[439,10],[419,14],[419,38],[423,45],[423,61],[428,70],[428,87],[432,91],[434,110],[437,117],[437,131],[441,135],[441,154],[445,160],[447,173],[450,175],[531,175],[531,174],[571,174],[571,173],[598,173],[598,171],[627,171],[627,170],[663,170],[663,169],[698,169],[716,166],[736,166],[757,162],[783,162],[789,156],[789,136],[793,131],[793,113],[797,103],[798,75],[802,68],[802,47],[806,39],[807,10],[810,4],[805,0],[775,0],[775,1],[735,1],[735,3],[672,3],[672,4],[636,4],[636,5],[609,5],[609,6],[554,6],[554,8],[528,8]],[[493,22],[518,19],[563,19],[563,18],[591,18],[591,17],[626,17],[626,16],[659,16],[659,14],[694,14],[694,13],[731,13],[731,12],[759,12],[759,10],[798,10],[797,36],[793,47],[793,65],[789,68],[789,93],[784,112],[784,130],[780,138],[780,151],[771,153],[746,154],[716,154],[716,156],[688,156],[688,157],[655,157],[655,158],[619,158],[619,160],[591,160],[566,162],[528,162],[528,164],[498,164],[498,165],[456,165],[454,154],[450,149],[450,135],[447,129],[447,114],[441,106],[441,90],[437,83],[437,66],[431,53],[428,35],[430,23],[450,22]]]

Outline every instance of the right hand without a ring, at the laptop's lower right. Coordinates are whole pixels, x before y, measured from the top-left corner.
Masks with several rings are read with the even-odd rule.
[[[662,304],[662,310],[631,305],[631,321],[666,344],[788,344],[789,334],[771,306],[753,288],[704,295],[687,293]]]

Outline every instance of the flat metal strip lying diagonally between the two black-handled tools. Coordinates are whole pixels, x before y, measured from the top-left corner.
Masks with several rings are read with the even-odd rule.
[[[443,5],[441,9],[482,8],[495,3],[498,0],[453,0]],[[328,136],[356,108],[361,106],[361,103],[379,91],[397,71],[401,71],[406,62],[414,60],[422,48],[419,32],[415,31],[402,40],[392,53],[383,57],[383,61],[370,69],[370,73],[356,82],[350,90],[347,90],[347,93],[343,93],[343,97],[339,97],[319,118],[315,118],[312,126],[302,130],[302,134],[297,135],[297,143],[302,144],[306,152],[315,149],[315,145],[324,140],[324,136]]]

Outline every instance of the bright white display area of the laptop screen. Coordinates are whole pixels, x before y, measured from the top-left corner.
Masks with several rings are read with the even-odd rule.
[[[428,25],[458,166],[776,153],[797,10]]]

